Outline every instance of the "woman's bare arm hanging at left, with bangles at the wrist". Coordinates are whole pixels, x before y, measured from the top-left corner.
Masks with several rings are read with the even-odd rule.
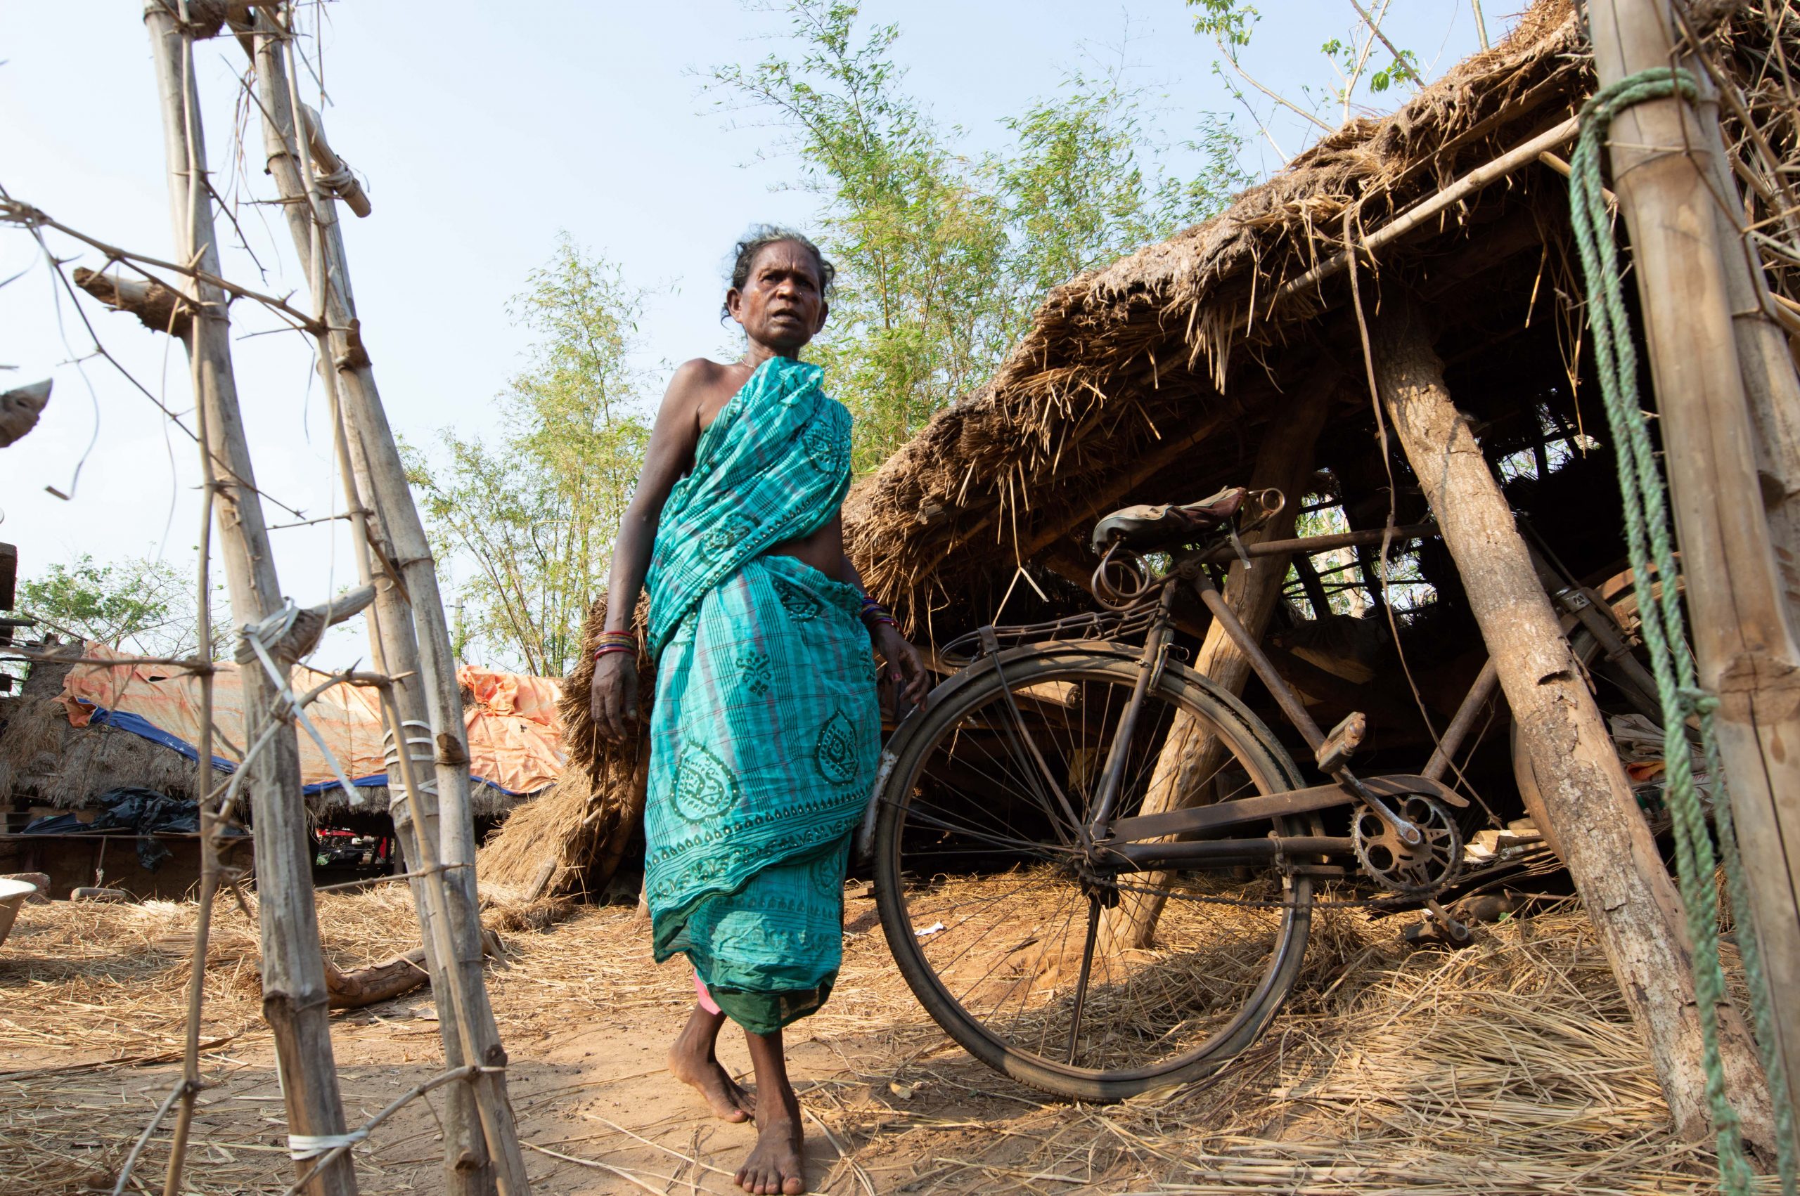
[[[628,631],[637,595],[650,572],[650,554],[657,543],[657,522],[675,482],[693,464],[693,450],[700,442],[700,394],[711,361],[688,361],[675,370],[668,394],[657,410],[644,448],[644,469],[637,475],[637,489],[619,520],[619,538],[612,545],[612,570],[607,581],[607,631]],[[634,653],[607,653],[594,664],[590,689],[594,725],[601,739],[623,743],[625,723],[637,718],[637,658]]]

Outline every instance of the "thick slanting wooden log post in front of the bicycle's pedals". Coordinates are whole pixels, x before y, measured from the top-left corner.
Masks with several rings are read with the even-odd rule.
[[[1467,419],[1451,405],[1424,318],[1400,297],[1382,297],[1373,358],[1382,403],[1456,559],[1512,718],[1530,746],[1555,840],[1649,1043],[1669,1111],[1683,1137],[1706,1138],[1712,1117],[1694,960],[1674,881],[1507,498]],[[1762,1068],[1732,1011],[1721,1018],[1719,1047],[1744,1133],[1773,1142]]]

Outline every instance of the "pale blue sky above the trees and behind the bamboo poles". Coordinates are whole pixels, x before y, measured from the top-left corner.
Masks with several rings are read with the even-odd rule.
[[[1328,79],[1318,45],[1352,32],[1348,2],[1264,0],[1262,9],[1251,70],[1291,95]],[[169,255],[162,135],[137,13],[133,2],[0,4],[0,183],[101,239]],[[738,0],[338,0],[326,14],[326,126],[374,201],[369,219],[346,212],[356,300],[389,417],[414,441],[441,426],[493,430],[493,396],[526,344],[506,302],[551,255],[558,230],[621,263],[635,284],[661,288],[643,326],[643,363],[659,372],[727,345],[716,311],[733,239],[758,221],[805,227],[814,210],[812,196],[779,189],[794,178],[792,162],[756,160],[772,133],[731,128],[733,117],[698,94],[697,72],[772,49],[761,38],[785,29],[778,13]],[[968,129],[976,149],[1003,147],[1003,117],[1055,90],[1084,56],[1118,59],[1121,43],[1132,79],[1161,97],[1170,140],[1188,135],[1202,112],[1237,112],[1242,122],[1210,74],[1211,43],[1190,32],[1179,0],[878,0],[864,14],[902,25],[896,56],[911,90],[941,122]],[[1489,32],[1508,23],[1490,13]],[[1384,27],[1420,54],[1427,77],[1476,47],[1462,0],[1393,0]],[[230,158],[241,65],[230,40],[205,43],[198,56],[211,165],[221,189],[236,183],[268,198],[259,129],[241,171]],[[1253,133],[1247,122],[1240,129]],[[1285,119],[1276,138],[1292,153],[1305,133]],[[1253,140],[1246,165],[1260,173],[1276,162]],[[268,275],[236,250],[227,273],[277,293],[299,288],[275,214],[245,207],[241,221]],[[59,254],[76,252],[50,236]],[[97,255],[81,264],[97,266]],[[70,361],[90,351],[81,318],[65,295],[59,329],[34,243],[0,228],[0,279],[20,270],[27,273],[0,288],[0,365],[18,367],[0,372],[0,385],[54,376],[56,392],[38,430],[0,450],[0,540],[20,547],[27,576],[81,552],[110,559],[162,549],[189,561],[193,444],[166,435],[151,403],[108,363]],[[86,311],[140,381],[166,388],[178,410],[191,405],[178,345],[166,358],[164,338],[130,317],[94,304]],[[238,336],[272,327],[247,304],[234,318]],[[250,336],[236,344],[236,361],[261,487],[308,516],[329,513],[329,439],[308,344],[292,333]],[[68,491],[83,453],[74,498],[47,495],[45,486]],[[351,577],[342,523],[275,538],[283,588],[302,604]],[[342,664],[358,653],[360,635],[324,656]]]

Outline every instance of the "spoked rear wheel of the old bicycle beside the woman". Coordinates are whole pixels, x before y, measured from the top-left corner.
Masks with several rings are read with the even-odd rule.
[[[1312,919],[1312,881],[1267,858],[1082,867],[1076,826],[1138,680],[1127,651],[1008,653],[1010,698],[997,669],[976,665],[985,673],[900,737],[877,790],[877,899],[913,993],[976,1058],[1084,1101],[1199,1079],[1255,1041],[1294,984]],[[1217,746],[1202,759],[1206,741]],[[1147,694],[1116,817],[1166,791],[1174,763],[1186,763],[1183,804],[1298,777],[1242,703],[1179,664]],[[1316,826],[1267,820],[1231,836]],[[1141,924],[1127,919],[1138,903],[1161,906],[1148,946],[1123,933]]]

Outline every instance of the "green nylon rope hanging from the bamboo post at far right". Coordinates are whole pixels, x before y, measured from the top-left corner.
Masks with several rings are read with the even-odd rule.
[[[1764,984],[1762,951],[1751,923],[1750,885],[1737,852],[1732,804],[1724,793],[1724,773],[1719,768],[1719,748],[1712,730],[1712,716],[1719,709],[1719,700],[1699,689],[1694,658],[1687,647],[1669,505],[1651,448],[1649,419],[1638,401],[1638,354],[1625,315],[1618,246],[1613,243],[1600,191],[1600,164],[1613,117],[1633,104],[1676,94],[1692,101],[1696,94],[1694,76],[1685,70],[1656,68],[1604,86],[1588,101],[1580,113],[1580,137],[1570,158],[1570,201],[1575,245],[1588,277],[1588,322],[1593,327],[1600,394],[1606,399],[1607,426],[1613,430],[1618,486],[1625,498],[1625,540],[1631,547],[1642,635],[1663,707],[1663,799],[1674,820],[1681,903],[1687,910],[1688,935],[1694,941],[1694,989],[1699,998],[1706,1101],[1719,1138],[1719,1183],[1732,1196],[1739,1196],[1751,1191],[1755,1176],[1744,1156],[1737,1111],[1724,1095],[1724,1068],[1719,1061],[1717,1011],[1724,1000],[1724,969],[1719,966],[1719,896],[1714,887],[1717,858],[1706,827],[1706,809],[1694,782],[1694,757],[1687,739],[1690,716],[1697,716],[1706,773],[1714,782],[1712,817],[1719,836],[1719,856],[1724,861],[1726,888],[1732,896],[1732,912],[1737,917],[1737,950],[1750,982],[1751,1016],[1762,1050],[1762,1067],[1768,1072],[1769,1099],[1775,1106],[1782,1192],[1795,1196],[1793,1104],[1787,1099],[1782,1061],[1775,1054],[1773,1013]],[[1654,577],[1663,581],[1660,592],[1652,570]]]

